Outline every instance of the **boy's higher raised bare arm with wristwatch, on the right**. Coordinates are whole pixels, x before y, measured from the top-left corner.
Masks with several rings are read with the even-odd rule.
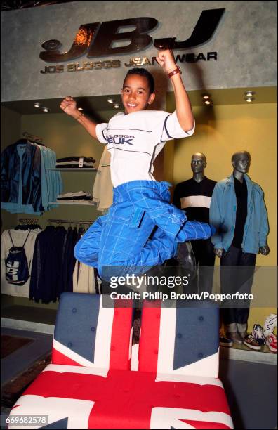
[[[175,58],[173,57],[172,51],[169,49],[165,51],[159,51],[157,54],[157,63],[161,65],[166,74],[171,74],[174,70],[178,69]],[[187,96],[183,80],[180,76],[180,72],[176,72],[169,77],[173,85],[173,91],[176,100],[176,112],[178,122],[184,131],[190,131],[194,126],[194,117],[192,113],[190,99]]]

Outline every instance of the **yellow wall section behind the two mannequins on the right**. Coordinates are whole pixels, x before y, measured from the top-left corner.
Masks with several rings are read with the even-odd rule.
[[[171,94],[166,100],[166,108],[169,112],[174,109]],[[232,173],[232,154],[239,150],[249,151],[251,153],[249,176],[263,188],[270,223],[270,234],[267,239],[270,254],[268,256],[258,254],[256,265],[276,266],[277,104],[196,106],[193,107],[193,112],[196,119],[194,135],[176,141],[174,150],[166,148],[173,166],[172,173],[170,163],[166,166],[168,177],[172,176],[173,185],[192,178],[191,156],[194,152],[203,152],[207,161],[206,176],[214,181],[220,181]],[[216,266],[219,266],[218,258]],[[277,313],[276,307],[251,307],[249,330],[255,323],[262,325],[265,317],[272,312]]]

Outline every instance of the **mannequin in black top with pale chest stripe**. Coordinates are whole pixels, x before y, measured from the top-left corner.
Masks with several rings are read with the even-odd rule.
[[[209,207],[216,181],[206,178],[206,156],[195,152],[191,157],[192,179],[176,185],[173,204],[184,209],[190,221],[209,222]],[[207,220],[207,221],[205,221]],[[198,267],[198,276],[187,288],[192,292],[211,292],[213,286],[213,266],[215,254],[211,240],[192,241],[192,250]]]

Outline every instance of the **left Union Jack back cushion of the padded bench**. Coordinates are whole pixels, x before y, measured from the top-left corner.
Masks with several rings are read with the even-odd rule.
[[[102,306],[100,294],[61,294],[52,363],[130,369],[133,310],[121,304]]]

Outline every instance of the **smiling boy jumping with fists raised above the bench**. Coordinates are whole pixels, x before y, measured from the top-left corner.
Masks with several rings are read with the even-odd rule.
[[[173,85],[176,110],[172,114],[147,110],[154,101],[154,79],[145,69],[128,71],[121,91],[124,112],[108,123],[95,124],[77,110],[72,97],[60,107],[77,119],[93,138],[107,145],[111,155],[113,204],[77,242],[74,255],[98,268],[105,280],[107,268],[117,275],[145,273],[178,254],[178,243],[207,239],[211,226],[187,221],[184,211],[170,204],[170,183],[155,181],[153,162],[165,142],[194,133],[194,117],[181,72],[169,50],[159,51],[157,62]],[[116,274],[115,271],[113,275]]]

